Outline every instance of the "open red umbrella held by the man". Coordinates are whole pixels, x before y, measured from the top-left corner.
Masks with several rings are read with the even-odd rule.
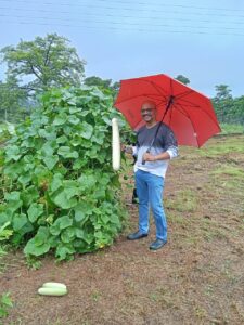
[[[141,105],[146,100],[155,102],[156,119],[172,129],[181,145],[200,147],[221,131],[207,96],[163,74],[121,80],[114,106],[138,130],[144,125]]]

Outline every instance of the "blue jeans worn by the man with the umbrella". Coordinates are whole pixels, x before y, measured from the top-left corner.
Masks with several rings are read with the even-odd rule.
[[[139,198],[139,232],[149,233],[151,207],[156,225],[156,238],[167,242],[167,221],[163,206],[164,178],[139,169],[136,172],[136,187]]]

